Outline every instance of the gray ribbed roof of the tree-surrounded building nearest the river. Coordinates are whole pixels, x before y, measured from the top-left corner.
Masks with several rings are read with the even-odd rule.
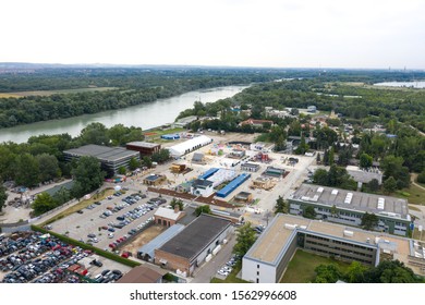
[[[126,159],[131,157],[138,157],[138,152],[134,150],[127,150],[122,147],[108,147],[100,145],[84,145],[78,148],[68,149],[63,151],[64,154],[71,156],[92,156],[96,157],[100,161],[114,162],[121,159]]]

